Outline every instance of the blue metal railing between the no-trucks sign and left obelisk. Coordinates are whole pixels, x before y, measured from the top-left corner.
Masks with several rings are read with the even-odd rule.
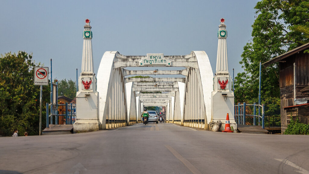
[[[74,124],[76,120],[76,106],[73,106],[72,103],[69,105],[68,102],[66,104],[58,104],[57,106],[65,106],[65,114],[58,114],[58,108],[53,108],[51,103],[46,103],[46,128],[49,128],[49,123],[53,124],[53,117],[55,117],[55,124],[59,124],[59,119],[62,119],[62,116],[65,116],[66,124]]]

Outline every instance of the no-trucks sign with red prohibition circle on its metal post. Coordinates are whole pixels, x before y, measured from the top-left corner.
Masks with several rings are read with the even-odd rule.
[[[34,68],[34,85],[40,85],[40,130],[42,133],[42,85],[48,85],[48,67]]]

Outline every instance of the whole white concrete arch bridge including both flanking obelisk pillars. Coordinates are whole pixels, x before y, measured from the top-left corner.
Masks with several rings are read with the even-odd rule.
[[[217,121],[222,122],[220,129],[224,129],[229,114],[231,127],[236,130],[226,25],[224,19],[220,21],[215,76],[204,51],[182,56],[126,56],[107,51],[95,76],[92,31],[90,20],[86,20],[74,132],[139,123],[146,106],[166,107],[169,123],[204,129]]]

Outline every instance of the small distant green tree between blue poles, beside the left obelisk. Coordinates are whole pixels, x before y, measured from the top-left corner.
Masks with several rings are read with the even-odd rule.
[[[56,80],[54,80],[56,83]],[[76,81],[62,79],[58,81],[58,96],[64,95],[74,99],[76,97]]]

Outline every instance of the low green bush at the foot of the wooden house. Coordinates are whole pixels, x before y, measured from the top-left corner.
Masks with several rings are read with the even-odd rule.
[[[309,135],[309,124],[299,123],[298,118],[294,121],[291,116],[290,124],[284,132],[285,135]]]

